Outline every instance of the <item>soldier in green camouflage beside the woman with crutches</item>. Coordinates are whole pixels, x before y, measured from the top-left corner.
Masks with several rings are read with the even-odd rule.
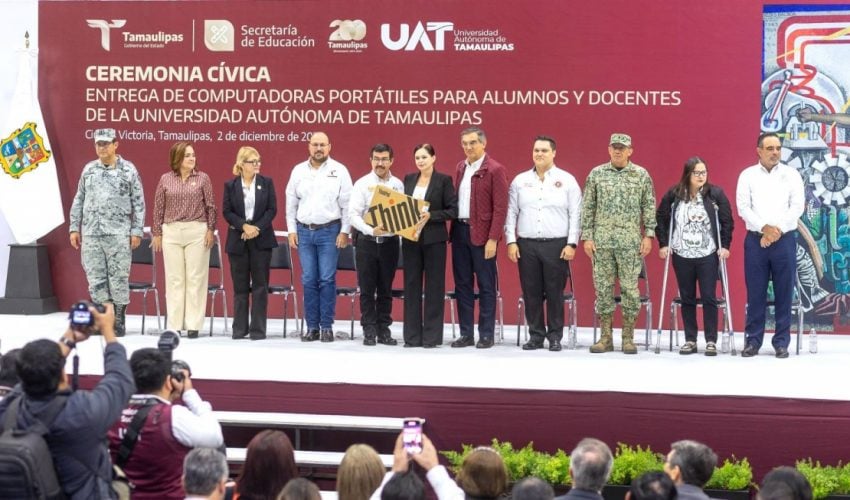
[[[635,319],[640,311],[638,275],[655,235],[655,192],[649,173],[630,161],[632,138],[612,134],[611,161],[590,171],[581,208],[581,239],[593,261],[596,314],[602,338],[590,352],[614,350],[614,283],[620,280],[623,352],[637,354]]]

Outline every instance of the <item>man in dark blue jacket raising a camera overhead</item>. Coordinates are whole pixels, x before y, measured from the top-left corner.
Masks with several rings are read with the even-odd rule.
[[[53,455],[56,475],[65,494],[74,499],[115,498],[110,483],[112,462],[106,447],[106,431],[121,415],[135,391],[127,352],[115,336],[115,311],[94,307],[93,329],[68,329],[58,342],[34,340],[21,349],[18,376],[21,383],[0,402],[0,421],[9,405],[24,398],[18,412],[18,428],[33,425],[54,398],[67,396],[65,407],[50,425],[46,436]],[[91,391],[72,392],[65,373],[65,358],[78,342],[100,331],[106,342],[103,351],[103,378]]]

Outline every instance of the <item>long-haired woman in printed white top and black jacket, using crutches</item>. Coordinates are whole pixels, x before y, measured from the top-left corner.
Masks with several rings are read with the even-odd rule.
[[[720,187],[708,183],[705,161],[695,156],[685,162],[679,183],[661,199],[656,219],[658,255],[666,259],[672,252],[682,301],[685,343],[679,354],[697,352],[696,286],[699,283],[705,355],[716,356],[718,258],[729,257],[734,222],[729,199]]]

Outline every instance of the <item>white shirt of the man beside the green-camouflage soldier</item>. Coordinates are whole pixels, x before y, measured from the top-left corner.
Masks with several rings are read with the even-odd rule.
[[[520,238],[567,238],[578,243],[581,216],[581,188],[569,172],[552,165],[543,180],[537,170],[521,172],[508,190],[508,216],[505,239],[508,244]]]

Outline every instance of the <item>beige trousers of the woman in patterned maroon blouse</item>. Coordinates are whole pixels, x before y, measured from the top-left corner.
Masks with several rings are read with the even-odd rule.
[[[210,249],[204,245],[205,222],[171,222],[162,225],[162,259],[165,262],[165,302],[168,328],[198,330],[207,311]]]

